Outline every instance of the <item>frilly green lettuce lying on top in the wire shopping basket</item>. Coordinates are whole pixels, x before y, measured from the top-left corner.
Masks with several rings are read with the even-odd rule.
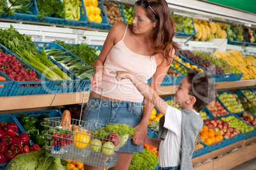
[[[99,138],[107,138],[108,133],[117,133],[119,135],[119,147],[124,145],[124,143],[129,139],[129,137],[135,134],[135,131],[134,128],[132,128],[132,126],[129,126],[127,124],[107,124],[104,128],[94,131],[92,135]]]

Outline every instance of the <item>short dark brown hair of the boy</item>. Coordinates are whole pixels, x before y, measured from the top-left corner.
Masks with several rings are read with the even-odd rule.
[[[187,70],[187,79],[190,84],[188,95],[196,98],[193,108],[200,112],[206,105],[215,100],[216,84],[211,75],[197,69]]]

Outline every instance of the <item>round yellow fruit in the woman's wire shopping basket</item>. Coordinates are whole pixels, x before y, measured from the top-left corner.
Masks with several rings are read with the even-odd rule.
[[[76,133],[73,136],[74,145],[76,148],[86,148],[90,142],[90,136],[86,132]]]

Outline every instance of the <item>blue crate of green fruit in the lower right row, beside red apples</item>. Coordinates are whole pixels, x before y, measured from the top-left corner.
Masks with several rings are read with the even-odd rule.
[[[239,114],[241,114],[241,113],[239,113]],[[221,117],[234,116],[235,118],[239,119],[240,121],[243,121],[242,119],[240,119],[240,117],[238,117],[239,114],[223,115],[223,116],[218,117],[218,119],[221,119]],[[243,122],[245,122],[245,121],[243,121]],[[247,122],[245,122],[245,123],[248,124]],[[250,124],[248,124],[248,125],[251,126]],[[236,129],[236,128],[234,128],[234,129]],[[231,145],[232,143],[236,143],[237,141],[240,141],[240,140],[245,140],[245,139],[251,138],[253,135],[255,135],[255,129],[253,131],[248,131],[246,133],[241,132],[241,133],[234,135],[231,138],[227,139],[227,145]]]

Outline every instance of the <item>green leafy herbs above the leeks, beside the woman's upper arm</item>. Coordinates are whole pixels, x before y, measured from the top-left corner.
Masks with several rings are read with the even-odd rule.
[[[86,43],[75,45],[75,44],[66,44],[64,41],[60,41],[60,40],[56,40],[54,42],[56,42],[57,44],[59,44],[60,46],[68,50],[75,49],[74,51],[72,51],[73,55],[77,56],[83,62],[89,65],[93,65],[95,60],[97,59],[97,56],[94,55],[94,53],[96,53],[96,49],[90,47]]]

